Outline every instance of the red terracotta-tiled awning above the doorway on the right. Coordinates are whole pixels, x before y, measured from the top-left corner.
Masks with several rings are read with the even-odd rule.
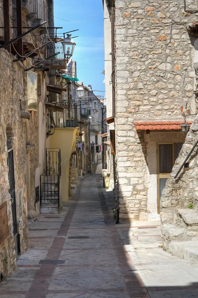
[[[191,125],[193,121],[187,121]],[[136,130],[181,130],[184,120],[134,121]]]

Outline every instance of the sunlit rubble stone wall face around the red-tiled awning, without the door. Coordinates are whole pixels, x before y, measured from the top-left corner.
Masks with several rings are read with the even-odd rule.
[[[147,143],[134,120],[184,119],[180,106],[195,113],[197,37],[186,29],[194,20],[183,0],[162,0],[155,7],[148,1],[115,0],[120,218],[149,216]]]

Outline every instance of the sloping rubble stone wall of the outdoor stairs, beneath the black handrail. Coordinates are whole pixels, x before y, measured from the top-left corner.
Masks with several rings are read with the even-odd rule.
[[[169,243],[173,240],[198,238],[198,147],[194,149],[178,177],[174,178],[197,140],[198,116],[162,193],[160,217],[166,249],[169,249]]]

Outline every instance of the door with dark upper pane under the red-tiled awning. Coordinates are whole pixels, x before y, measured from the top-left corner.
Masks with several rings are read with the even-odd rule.
[[[157,147],[157,185],[158,185],[158,213],[160,200],[166,181],[170,177],[175,160],[178,158],[183,143],[159,143]]]

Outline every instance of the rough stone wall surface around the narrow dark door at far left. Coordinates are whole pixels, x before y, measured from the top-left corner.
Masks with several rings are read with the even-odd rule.
[[[20,118],[27,106],[26,75],[21,63],[0,49],[0,205],[7,202],[9,234],[0,244],[0,273],[9,275],[15,268],[15,244],[7,167],[7,136],[13,140],[17,223],[20,222],[21,252],[28,246],[26,195],[26,124]],[[6,136],[7,132],[7,136]],[[19,218],[19,193],[22,195],[22,216]],[[7,260],[7,261],[6,261]]]

